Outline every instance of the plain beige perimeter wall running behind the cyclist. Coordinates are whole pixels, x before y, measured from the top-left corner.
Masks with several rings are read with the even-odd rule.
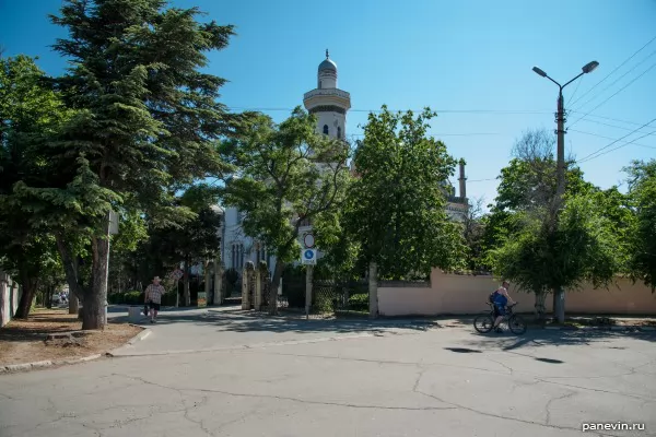
[[[379,287],[380,316],[466,315],[488,309],[488,295],[499,287],[492,276],[445,274],[433,270],[430,287]],[[534,310],[535,296],[511,284],[518,312]],[[552,295],[547,297],[547,310],[552,309]],[[617,285],[567,292],[565,310],[570,314],[656,315],[656,294],[642,283],[618,279]]]

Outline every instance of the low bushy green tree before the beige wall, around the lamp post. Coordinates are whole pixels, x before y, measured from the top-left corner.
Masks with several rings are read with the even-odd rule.
[[[593,196],[569,197],[555,229],[543,220],[547,215],[516,213],[512,221],[518,231],[489,252],[495,274],[536,293],[539,318],[549,291],[576,290],[584,281],[607,286],[623,268],[617,255],[620,236]]]

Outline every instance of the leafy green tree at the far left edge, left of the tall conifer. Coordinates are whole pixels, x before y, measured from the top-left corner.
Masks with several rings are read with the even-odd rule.
[[[44,146],[70,116],[44,79],[33,58],[0,59],[0,263],[23,288],[17,318],[28,316],[38,284],[61,273],[54,239],[35,223],[38,210],[20,194],[25,184],[43,186]]]

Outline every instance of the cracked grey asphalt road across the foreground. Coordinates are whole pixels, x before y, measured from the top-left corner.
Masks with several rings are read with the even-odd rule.
[[[163,314],[117,357],[1,375],[0,437],[656,435],[655,333],[441,324]]]

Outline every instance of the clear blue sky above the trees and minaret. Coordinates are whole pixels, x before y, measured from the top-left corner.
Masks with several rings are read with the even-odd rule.
[[[383,104],[391,109],[430,106],[440,113],[432,132],[468,163],[468,196],[487,202],[495,196],[496,181],[480,179],[499,175],[515,139],[527,128],[554,128],[558,87],[535,74],[534,66],[564,83],[588,61],[600,63],[565,88],[567,109],[575,110],[569,123],[602,104],[565,137],[567,153],[578,158],[656,118],[656,40],[585,95],[656,37],[654,0],[173,4],[198,5],[208,20],[236,26],[238,35],[230,47],[210,57],[209,71],[230,81],[222,96],[226,105],[267,108],[282,120],[315,87],[317,66],[328,48],[338,64],[339,86],[351,93],[348,134],[360,134],[358,126],[366,121],[367,110]],[[5,55],[38,55],[43,69],[60,73],[65,61],[49,45],[63,34],[46,17],[60,5],[61,0],[0,0]],[[284,110],[271,110],[276,108]],[[648,132],[656,133],[656,122],[626,141]],[[641,145],[582,163],[586,178],[608,188],[624,179],[621,168],[632,158],[656,157],[656,134],[636,143]]]

